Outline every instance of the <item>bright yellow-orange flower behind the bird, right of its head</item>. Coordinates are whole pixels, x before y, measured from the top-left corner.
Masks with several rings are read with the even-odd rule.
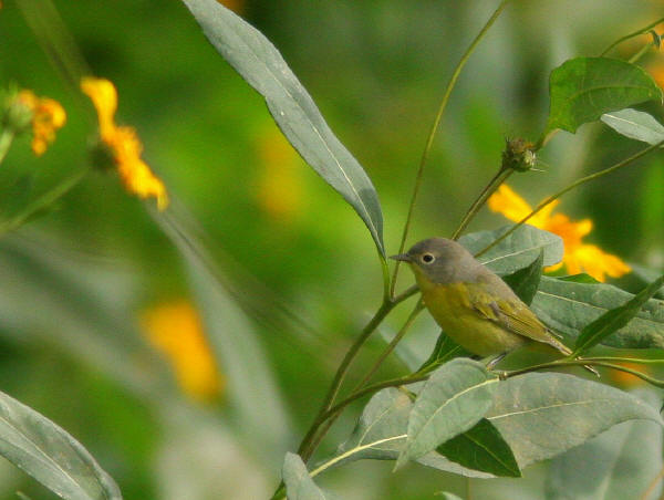
[[[552,215],[551,212],[558,204],[559,200],[549,204],[527,222],[536,228],[558,235],[564,242],[562,262],[551,265],[547,269],[548,271],[553,271],[564,264],[570,274],[585,272],[598,281],[605,281],[606,275],[619,278],[631,271],[630,267],[618,257],[605,253],[594,244],[582,241],[583,237],[592,230],[592,220],[573,221],[563,213]],[[488,206],[491,210],[502,213],[515,222],[523,219],[532,211],[530,205],[507,185],[500,186],[491,195]]]

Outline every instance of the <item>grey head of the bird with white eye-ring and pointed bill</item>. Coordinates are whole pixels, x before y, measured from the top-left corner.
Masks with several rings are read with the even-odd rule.
[[[446,238],[429,238],[415,243],[406,253],[391,259],[408,262],[417,282],[436,284],[475,283],[487,272],[473,254],[459,243]]]

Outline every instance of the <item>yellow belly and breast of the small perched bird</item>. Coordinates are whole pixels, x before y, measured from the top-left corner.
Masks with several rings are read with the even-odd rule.
[[[494,356],[527,342],[521,335],[487,320],[473,308],[465,283],[422,287],[422,296],[436,323],[466,351]]]

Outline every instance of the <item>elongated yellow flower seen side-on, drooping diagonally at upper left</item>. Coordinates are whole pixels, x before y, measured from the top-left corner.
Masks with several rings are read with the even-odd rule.
[[[168,195],[162,180],[141,159],[143,145],[132,127],[115,124],[117,91],[108,80],[84,77],[81,90],[92,100],[100,121],[100,136],[110,149],[125,189],[139,198],[156,198],[157,207],[168,206]]]

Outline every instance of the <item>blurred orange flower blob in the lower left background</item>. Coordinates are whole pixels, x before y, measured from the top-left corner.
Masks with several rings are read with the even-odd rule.
[[[224,379],[205,337],[198,311],[186,300],[143,312],[141,324],[148,342],[170,363],[181,390],[199,402],[218,398]]]

